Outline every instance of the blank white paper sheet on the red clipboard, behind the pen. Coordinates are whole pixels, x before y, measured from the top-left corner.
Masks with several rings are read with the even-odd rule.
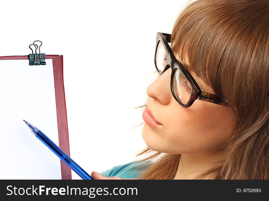
[[[0,60],[0,179],[61,179],[60,158],[23,120],[59,146],[52,59]]]

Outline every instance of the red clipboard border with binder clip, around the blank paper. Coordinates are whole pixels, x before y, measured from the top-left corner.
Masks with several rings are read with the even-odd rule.
[[[41,42],[41,44],[42,44],[42,42]],[[35,44],[35,42],[31,45],[37,46]],[[40,54],[40,46],[39,46],[39,54]],[[36,50],[37,50],[37,47],[36,47]],[[32,51],[32,53],[33,53],[33,51]],[[25,56],[0,56],[0,60],[28,60],[30,62],[30,56],[31,56],[30,54],[25,55]],[[36,53],[36,51],[35,51],[35,56],[36,56],[36,60],[40,62],[40,60],[38,59],[39,55]],[[41,56],[40,56],[40,58],[41,58]],[[44,54],[43,58],[44,58],[44,60],[52,59],[59,147],[68,156],[70,156],[67,113],[66,113],[65,94],[64,94],[63,55],[45,55]],[[33,65],[36,65],[36,68],[38,68],[39,67],[38,65],[40,65],[40,63],[39,64],[35,63]],[[43,65],[43,64],[41,64],[41,65]],[[1,68],[1,66],[0,66],[0,68]],[[28,121],[31,121],[31,120],[28,120]],[[39,125],[36,125],[36,126],[39,126]],[[42,130],[42,128],[40,128],[40,129]],[[29,133],[29,135],[31,135],[31,133]],[[40,145],[40,146],[44,146],[44,145]],[[47,149],[47,147],[46,147],[46,149]],[[55,158],[58,158],[55,154],[54,154],[54,156],[55,156]],[[61,166],[61,179],[71,180],[72,177],[71,177],[70,167],[68,167],[62,160],[60,160],[60,166]]]

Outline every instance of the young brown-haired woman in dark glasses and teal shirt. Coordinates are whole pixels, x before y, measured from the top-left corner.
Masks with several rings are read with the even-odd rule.
[[[268,44],[269,1],[191,2],[157,33],[138,155],[154,153],[91,176],[269,179]]]

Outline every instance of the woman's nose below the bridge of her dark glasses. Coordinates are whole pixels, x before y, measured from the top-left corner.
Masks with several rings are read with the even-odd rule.
[[[158,99],[162,104],[167,105],[171,101],[172,93],[170,89],[171,68],[149,84],[146,89],[147,95],[153,99]]]

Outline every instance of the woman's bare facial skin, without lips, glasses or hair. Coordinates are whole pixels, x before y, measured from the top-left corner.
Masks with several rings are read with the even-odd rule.
[[[189,72],[203,91],[214,94],[210,86]],[[199,99],[184,108],[171,93],[170,79],[171,68],[158,75],[146,89],[147,108],[161,124],[157,127],[144,124],[142,137],[147,146],[163,153],[186,154],[215,152],[227,145],[235,123],[230,108]]]

